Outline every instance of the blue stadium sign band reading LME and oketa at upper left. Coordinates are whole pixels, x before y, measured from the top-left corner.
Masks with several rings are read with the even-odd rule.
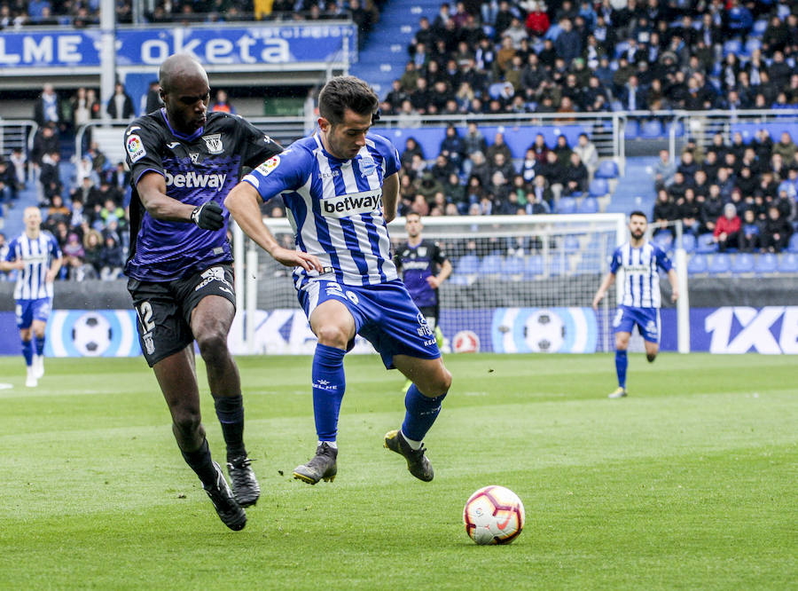
[[[98,29],[11,32],[0,36],[0,71],[18,67],[100,67]],[[120,28],[117,66],[159,66],[177,52],[207,66],[235,69],[254,64],[340,61],[343,40],[354,46],[349,24],[253,25],[249,27]]]

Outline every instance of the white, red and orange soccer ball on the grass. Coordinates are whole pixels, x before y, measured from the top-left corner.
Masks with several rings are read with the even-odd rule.
[[[509,488],[485,486],[463,508],[465,532],[477,544],[509,544],[524,529],[524,504]]]

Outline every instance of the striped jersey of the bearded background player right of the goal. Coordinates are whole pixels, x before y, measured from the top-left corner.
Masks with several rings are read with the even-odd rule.
[[[633,308],[659,308],[661,306],[660,275],[657,269],[669,272],[673,265],[665,252],[644,242],[632,248],[629,242],[615,248],[610,271],[623,269],[623,299],[621,305]]]

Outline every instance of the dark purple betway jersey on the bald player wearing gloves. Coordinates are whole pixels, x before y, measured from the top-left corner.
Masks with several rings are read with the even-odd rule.
[[[216,232],[190,222],[155,219],[139,199],[136,185],[152,171],[164,177],[172,199],[191,205],[216,201],[223,206],[239,182],[242,166],[254,168],[282,148],[251,123],[227,113],[208,113],[205,127],[184,136],[171,128],[163,108],[130,123],[124,142],[133,185],[125,273],[142,281],[169,281],[231,262],[227,209],[225,224]]]

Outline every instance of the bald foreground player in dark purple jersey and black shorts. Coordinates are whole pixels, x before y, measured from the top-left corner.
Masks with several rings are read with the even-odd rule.
[[[242,166],[281,148],[237,115],[207,113],[207,74],[189,55],[163,62],[160,88],[164,107],[132,122],[124,136],[133,185],[128,290],[177,445],[223,523],[240,530],[243,507],[261,491],[244,445],[239,370],[227,348],[235,293],[222,202]],[[200,419],[195,340],[222,423],[232,492],[211,459]]]

